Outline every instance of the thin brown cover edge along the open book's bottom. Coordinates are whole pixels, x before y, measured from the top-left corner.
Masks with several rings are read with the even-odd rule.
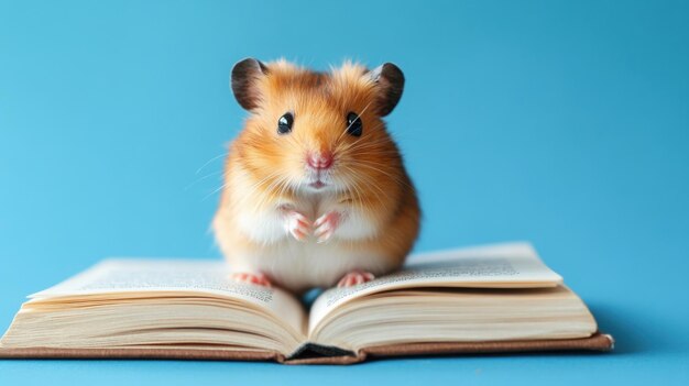
[[[305,346],[294,357],[270,351],[229,351],[222,349],[54,349],[0,346],[0,359],[74,359],[74,360],[189,360],[189,361],[275,361],[285,364],[353,364],[368,360],[394,356],[462,355],[518,352],[598,351],[613,349],[611,335],[595,333],[589,338],[492,341],[405,343],[365,348],[358,353],[328,350],[322,346]]]

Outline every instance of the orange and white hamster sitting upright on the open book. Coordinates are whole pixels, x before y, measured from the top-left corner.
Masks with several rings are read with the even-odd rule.
[[[247,58],[230,84],[250,115],[230,145],[212,228],[233,278],[299,294],[400,268],[420,217],[382,120],[402,97],[400,68],[318,73]]]

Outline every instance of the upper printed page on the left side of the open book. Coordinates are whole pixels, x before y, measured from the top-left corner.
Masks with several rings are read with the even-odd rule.
[[[249,302],[273,313],[299,333],[306,318],[302,305],[289,294],[232,280],[229,266],[222,261],[110,258],[29,297],[39,300],[62,296],[171,291],[208,294]]]

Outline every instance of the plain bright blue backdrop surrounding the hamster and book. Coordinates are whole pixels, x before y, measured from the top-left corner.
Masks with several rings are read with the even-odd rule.
[[[689,7],[674,1],[0,3],[0,329],[105,256],[219,257],[244,112],[234,62],[406,74],[391,131],[417,251],[531,240],[617,339],[605,355],[265,363],[0,361],[0,384],[689,382]]]

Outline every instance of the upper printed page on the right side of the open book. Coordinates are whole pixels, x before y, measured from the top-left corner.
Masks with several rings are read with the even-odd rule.
[[[338,306],[375,293],[419,287],[539,288],[560,283],[562,277],[525,242],[417,254],[397,273],[322,293],[311,307],[309,331]]]

